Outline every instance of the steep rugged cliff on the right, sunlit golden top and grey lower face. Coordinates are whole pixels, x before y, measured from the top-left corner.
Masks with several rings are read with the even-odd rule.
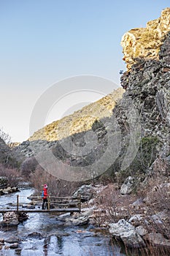
[[[141,124],[139,151],[134,159],[134,165],[132,163],[128,167],[128,171],[141,169],[141,163],[139,163],[141,160],[139,161],[139,159],[142,159],[145,173],[159,168],[160,172],[164,171],[166,176],[169,176],[169,30],[170,9],[167,8],[161,13],[161,18],[147,23],[146,29],[132,29],[123,36],[122,45],[128,71],[121,77],[121,85],[125,89],[125,94],[123,94],[123,100],[117,106],[115,114],[119,122],[123,124],[126,143],[130,137],[130,130],[125,129],[125,105],[129,99],[134,104]],[[125,155],[124,151],[125,147],[123,156]],[[123,156],[120,162],[123,162]]]

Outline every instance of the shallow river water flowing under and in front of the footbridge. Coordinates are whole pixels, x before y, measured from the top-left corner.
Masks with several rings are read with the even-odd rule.
[[[0,208],[16,203],[28,203],[29,195],[34,189],[23,189],[20,192],[0,197]],[[0,214],[2,220],[2,214]],[[1,227],[0,238],[19,240],[18,249],[5,249],[0,256],[124,256],[120,247],[112,244],[108,234],[96,232],[91,226],[64,227],[55,215],[48,213],[31,213],[28,219],[17,227]],[[5,245],[8,245],[7,242]]]

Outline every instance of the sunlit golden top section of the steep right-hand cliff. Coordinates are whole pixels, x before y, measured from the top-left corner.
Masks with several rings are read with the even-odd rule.
[[[167,32],[170,30],[170,8],[161,12],[161,17],[149,21],[146,28],[131,29],[126,32],[121,41],[123,60],[130,70],[138,58],[158,59],[159,51]]]

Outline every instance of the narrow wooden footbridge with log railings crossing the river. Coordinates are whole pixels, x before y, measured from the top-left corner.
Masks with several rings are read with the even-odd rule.
[[[0,213],[15,211],[23,213],[61,213],[61,212],[81,212],[81,196],[75,197],[47,197],[47,209],[42,210],[42,198],[39,196],[27,197],[31,203],[20,203],[20,196],[16,196],[15,206],[0,208]]]

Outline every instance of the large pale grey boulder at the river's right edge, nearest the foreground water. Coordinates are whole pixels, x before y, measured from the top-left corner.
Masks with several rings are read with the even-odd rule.
[[[109,224],[109,233],[112,236],[121,238],[125,246],[139,248],[145,246],[143,239],[136,232],[135,227],[120,219],[117,223]]]

